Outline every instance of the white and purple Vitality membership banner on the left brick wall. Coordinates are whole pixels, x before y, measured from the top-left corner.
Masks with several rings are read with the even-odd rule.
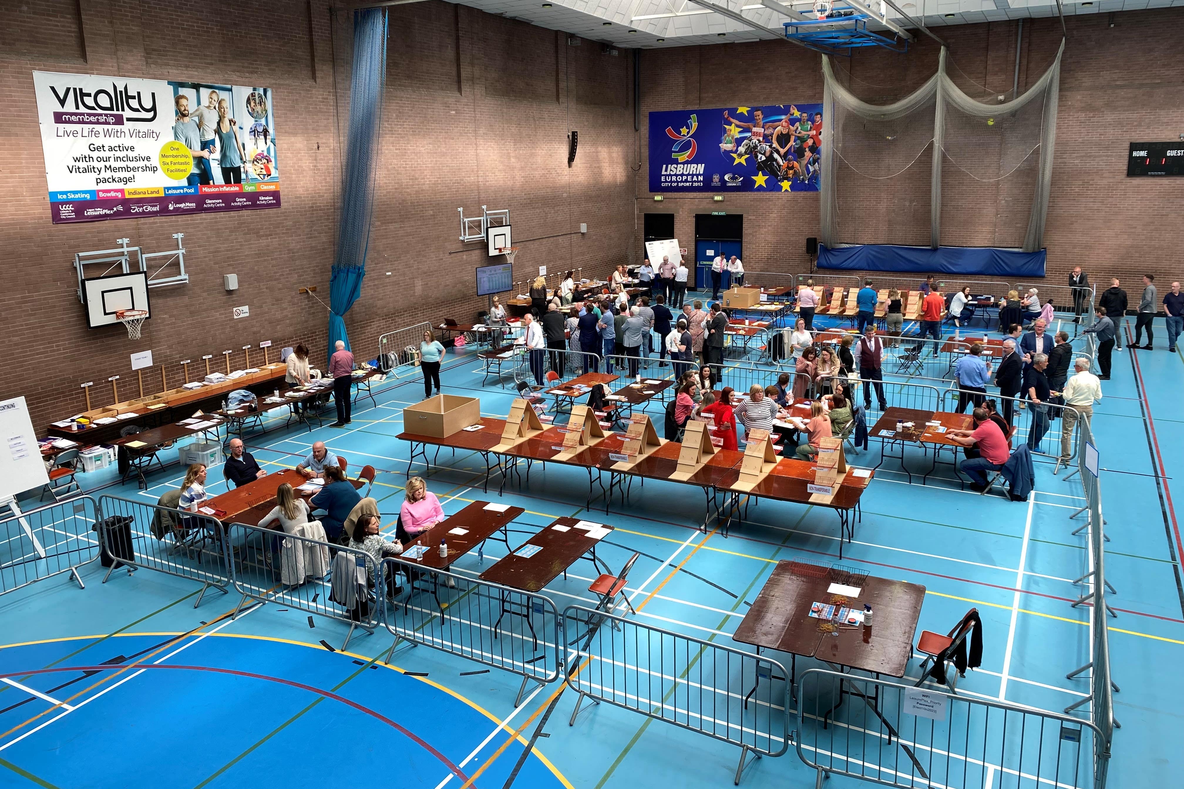
[[[279,207],[271,89],[33,72],[54,222]]]

